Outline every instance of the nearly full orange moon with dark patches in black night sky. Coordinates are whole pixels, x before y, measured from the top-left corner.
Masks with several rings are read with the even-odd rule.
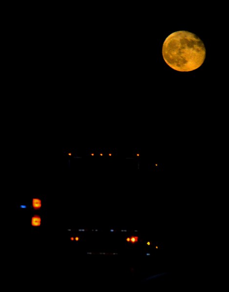
[[[205,60],[203,41],[188,31],[177,31],[169,35],[162,46],[162,55],[169,67],[188,72],[199,68]]]

